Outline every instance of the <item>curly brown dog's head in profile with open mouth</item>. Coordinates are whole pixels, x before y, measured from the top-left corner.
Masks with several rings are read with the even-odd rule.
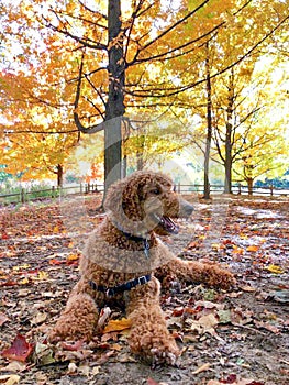
[[[164,174],[135,172],[110,187],[104,209],[114,224],[129,233],[177,233],[179,228],[171,218],[188,217],[193,207],[173,187]]]

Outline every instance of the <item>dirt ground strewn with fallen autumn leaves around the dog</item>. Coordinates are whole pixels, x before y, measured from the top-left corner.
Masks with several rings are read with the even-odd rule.
[[[224,264],[237,285],[224,292],[171,283],[162,293],[182,349],[177,367],[152,367],[132,355],[125,328],[89,344],[45,340],[78,279],[81,244],[102,218],[100,197],[85,201],[85,219],[57,202],[2,207],[0,384],[288,385],[289,199],[188,199],[192,218],[164,241],[181,257]],[[112,309],[111,317],[125,315]]]

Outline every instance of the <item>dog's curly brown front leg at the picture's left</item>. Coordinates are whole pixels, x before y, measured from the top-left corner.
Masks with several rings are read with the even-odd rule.
[[[89,341],[97,326],[99,311],[93,298],[84,290],[82,282],[73,289],[66,308],[48,333],[48,341]]]

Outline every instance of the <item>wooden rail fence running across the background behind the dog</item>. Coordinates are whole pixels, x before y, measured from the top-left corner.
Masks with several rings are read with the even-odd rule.
[[[175,186],[175,190],[179,194],[202,194],[203,185],[181,185]],[[223,185],[210,185],[211,194],[222,194],[224,191]],[[65,186],[63,188],[51,187],[40,190],[30,190],[22,188],[19,193],[0,194],[0,205],[5,204],[24,204],[30,200],[40,200],[47,198],[58,198],[68,195],[84,195],[102,193],[103,185],[97,184],[78,184],[73,186]],[[232,193],[235,195],[248,195],[248,188],[241,184],[232,187]],[[275,188],[274,186],[254,187],[253,195],[260,196],[289,196],[289,189]]]

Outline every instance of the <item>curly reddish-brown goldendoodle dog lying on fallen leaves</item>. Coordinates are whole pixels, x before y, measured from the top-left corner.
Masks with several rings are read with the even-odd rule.
[[[179,230],[173,218],[193,210],[174,193],[166,175],[142,170],[113,184],[104,208],[104,220],[87,240],[81,277],[48,339],[90,340],[100,309],[112,301],[125,304],[131,350],[156,363],[175,364],[180,350],[159,305],[159,279],[226,289],[235,283],[233,274],[219,265],[184,261],[162,242],[157,234]]]

